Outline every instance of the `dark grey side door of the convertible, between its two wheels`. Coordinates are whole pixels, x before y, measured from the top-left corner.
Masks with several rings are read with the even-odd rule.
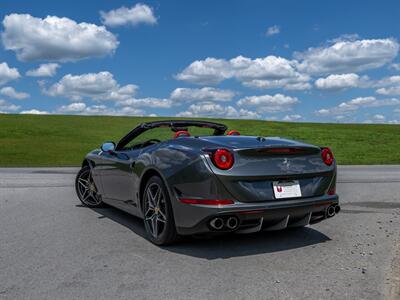
[[[106,202],[123,210],[132,211],[137,206],[135,186],[138,179],[133,168],[139,153],[139,149],[101,153],[103,197]]]

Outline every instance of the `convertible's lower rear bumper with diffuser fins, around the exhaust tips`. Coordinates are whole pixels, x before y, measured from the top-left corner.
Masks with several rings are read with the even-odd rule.
[[[179,201],[179,200],[177,200]],[[181,235],[198,233],[251,233],[261,230],[280,230],[287,227],[306,226],[328,218],[330,206],[340,210],[337,195],[275,200],[257,203],[236,202],[231,205],[211,207],[175,203],[175,224]],[[235,228],[228,228],[230,217],[238,221]],[[216,230],[211,226],[215,218],[223,221],[223,228]]]

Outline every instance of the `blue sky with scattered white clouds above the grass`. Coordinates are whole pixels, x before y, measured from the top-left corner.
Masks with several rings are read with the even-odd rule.
[[[399,9],[2,1],[0,112],[397,124]]]

